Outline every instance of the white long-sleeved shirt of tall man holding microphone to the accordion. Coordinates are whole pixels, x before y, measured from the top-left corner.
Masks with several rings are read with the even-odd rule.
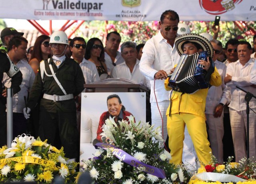
[[[164,39],[159,31],[156,36],[148,40],[142,49],[142,57],[140,59],[140,71],[150,80],[151,94],[150,103],[156,102],[154,91],[158,102],[169,100],[171,91],[166,91],[164,88],[164,79],[156,80],[154,89],[154,75],[159,70],[164,70],[170,73],[170,70],[178,63],[180,55],[176,47],[172,47]]]

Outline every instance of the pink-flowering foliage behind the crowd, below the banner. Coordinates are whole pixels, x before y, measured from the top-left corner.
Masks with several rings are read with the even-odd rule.
[[[208,32],[213,36],[211,30],[214,22],[204,22],[204,21],[186,21],[190,27],[191,33],[200,34],[202,32]],[[88,41],[90,38],[97,37],[103,41],[106,39],[106,34],[108,32],[117,31],[121,35],[121,42],[132,41],[136,44],[145,43],[147,40],[156,35],[159,31],[158,21],[146,21],[146,22],[135,22],[135,21],[86,21],[82,25],[88,28],[88,33],[76,31],[77,36],[82,36]],[[242,30],[240,30],[240,28]],[[222,42],[225,46],[226,42],[230,38],[245,39],[252,43],[252,38],[254,33],[250,31],[250,28],[254,30],[256,28],[256,22],[245,22],[240,28],[234,24],[234,22],[220,22],[220,32],[218,34],[218,40]]]

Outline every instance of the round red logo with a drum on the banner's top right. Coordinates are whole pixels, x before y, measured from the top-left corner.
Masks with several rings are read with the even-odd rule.
[[[242,0],[199,0],[199,4],[208,14],[219,15],[235,8]]]

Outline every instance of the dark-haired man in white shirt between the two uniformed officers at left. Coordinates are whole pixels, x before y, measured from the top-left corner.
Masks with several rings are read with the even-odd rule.
[[[24,96],[28,99],[28,92],[30,91],[34,79],[35,74],[33,69],[28,64],[26,60],[24,60],[26,56],[26,49],[28,46],[28,41],[26,38],[17,35],[14,36],[8,46],[8,57],[14,62],[14,64],[20,69],[22,73],[22,83],[20,85],[20,91],[13,95],[12,97],[12,111],[13,111],[13,138],[18,135],[22,135],[26,133],[27,130],[27,120],[23,115],[23,109],[25,107]],[[5,87],[11,86],[11,78],[8,77],[6,73],[4,73],[3,77]]]

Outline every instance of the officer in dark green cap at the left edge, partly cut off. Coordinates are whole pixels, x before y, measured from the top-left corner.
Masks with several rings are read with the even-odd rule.
[[[0,146],[7,143],[7,122],[6,122],[6,89],[4,87],[3,75],[7,73],[12,78],[11,88],[13,93],[20,91],[20,84],[22,83],[22,73],[6,55],[8,43],[10,39],[16,35],[23,35],[24,33],[17,32],[14,28],[4,28],[1,32],[1,40],[3,45],[0,47]]]

